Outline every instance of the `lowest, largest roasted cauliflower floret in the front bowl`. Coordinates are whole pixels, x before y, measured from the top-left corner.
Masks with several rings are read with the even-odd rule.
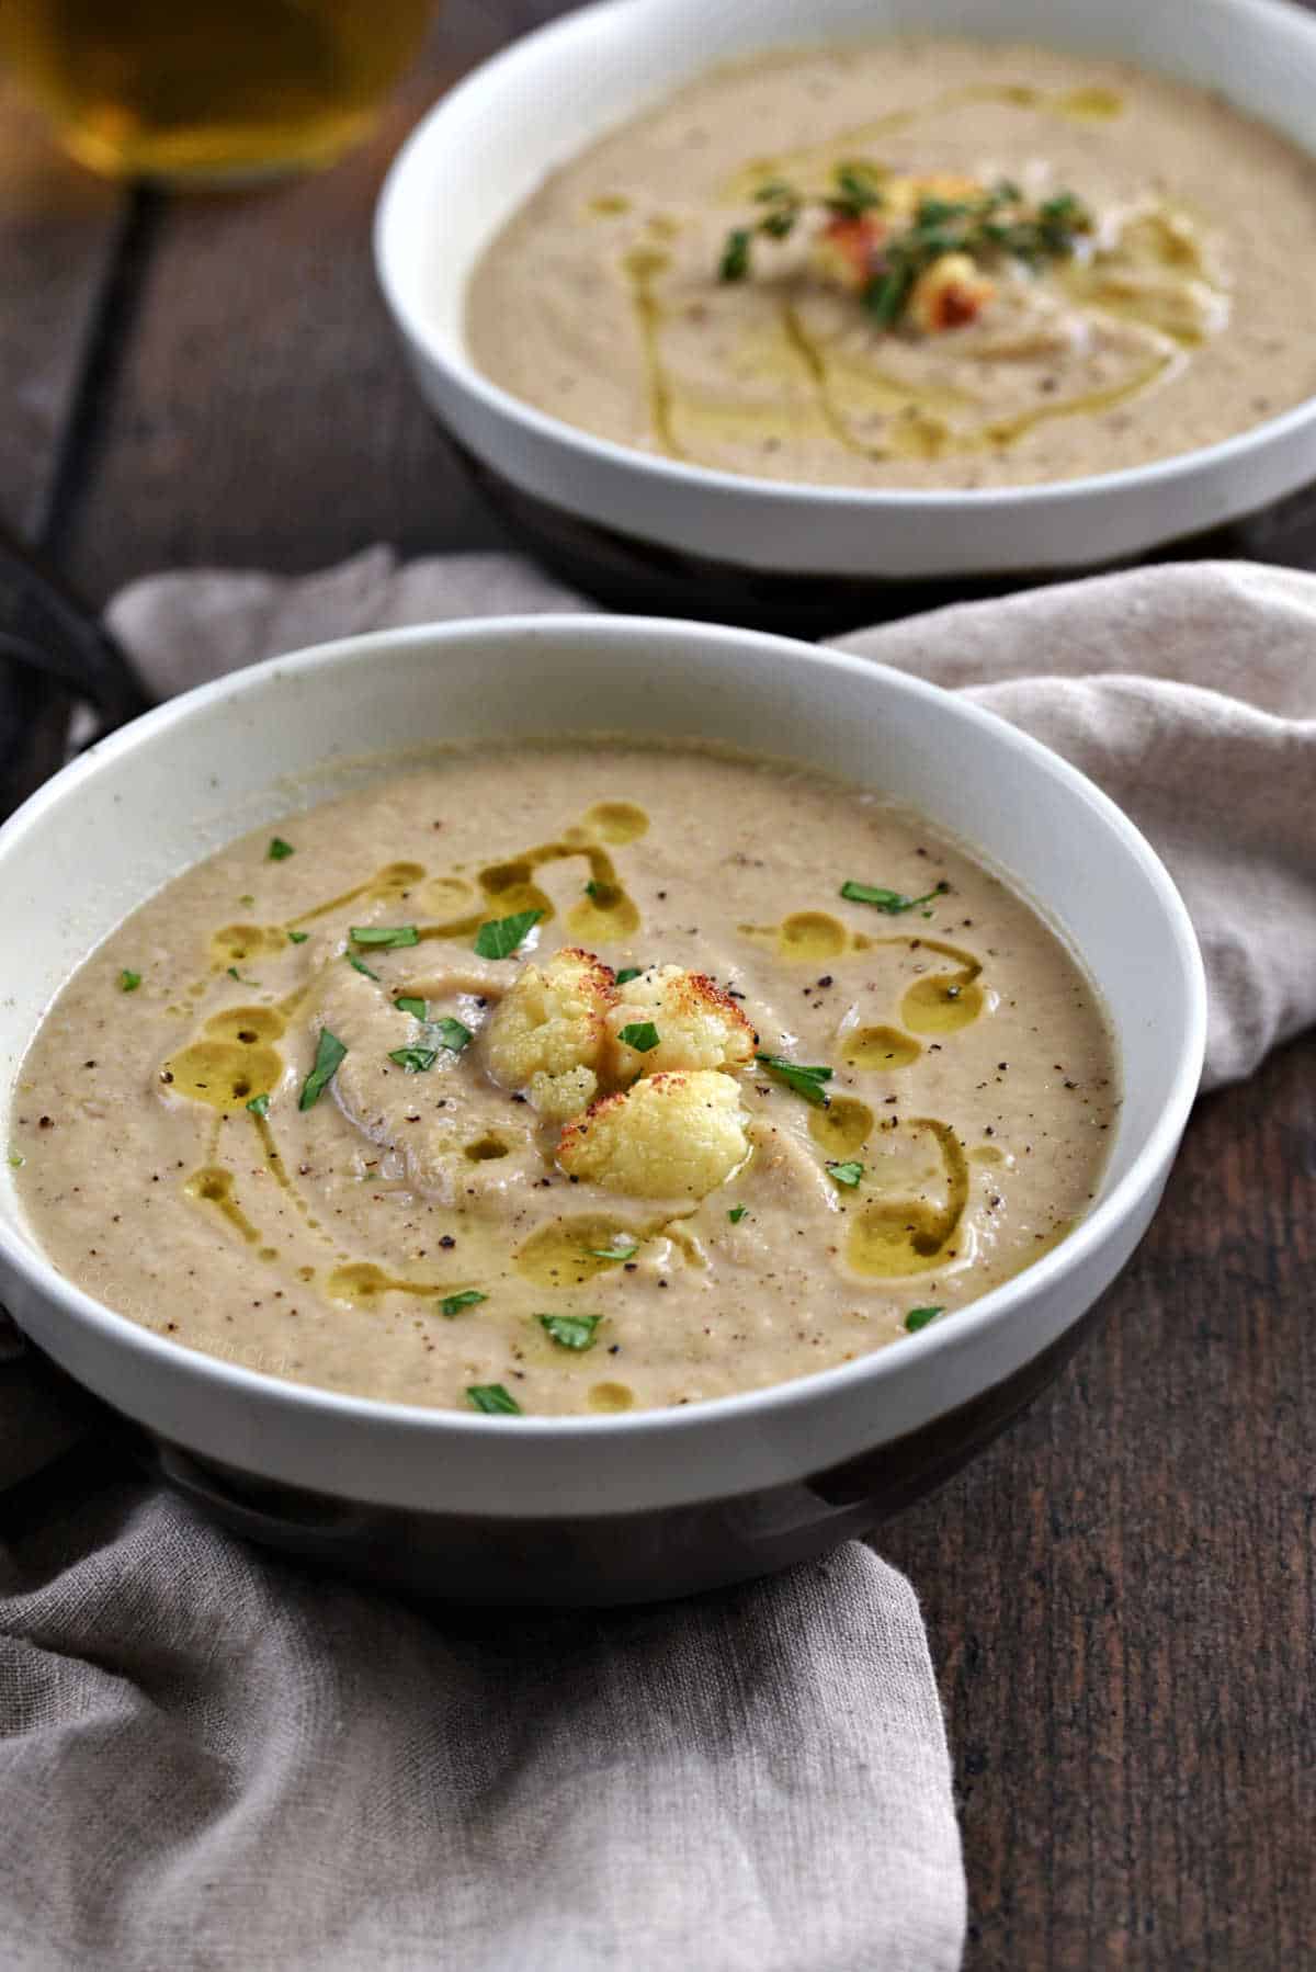
[[[604,1096],[558,1140],[568,1177],[639,1199],[702,1199],[750,1154],[740,1089],[730,1075],[645,1075]]]

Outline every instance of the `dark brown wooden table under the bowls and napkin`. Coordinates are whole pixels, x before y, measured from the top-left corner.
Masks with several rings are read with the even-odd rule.
[[[93,598],[152,568],[501,542],[402,371],[381,174],[554,0],[450,0],[375,142],[124,193],[0,85],[0,511]],[[1251,552],[1316,568],[1316,525]],[[1316,1964],[1316,1035],[1204,1100],[1103,1331],[880,1546],[949,1714],[971,1968]],[[825,1968],[819,1968],[825,1972]]]

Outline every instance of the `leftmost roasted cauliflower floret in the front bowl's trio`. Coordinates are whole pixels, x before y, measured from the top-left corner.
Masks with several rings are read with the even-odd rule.
[[[598,1089],[614,1000],[612,968],[592,952],[566,947],[543,966],[527,964],[485,1029],[489,1075],[525,1089],[548,1116],[578,1114]]]

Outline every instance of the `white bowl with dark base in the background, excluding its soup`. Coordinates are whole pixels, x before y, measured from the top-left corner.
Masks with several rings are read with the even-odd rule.
[[[610,0],[517,41],[404,144],[379,201],[375,258],[426,400],[572,572],[616,578],[647,566],[655,580],[696,582],[700,605],[716,611],[718,599],[738,607],[736,592],[716,584],[728,572],[852,586],[1081,570],[1237,521],[1316,477],[1316,398],[1127,471],[900,493],[789,485],[633,452],[535,410],[474,367],[470,272],[547,172],[718,61],[900,30],[1123,55],[1215,89],[1316,150],[1316,16],[1279,0],[813,0],[807,16],[799,0]]]

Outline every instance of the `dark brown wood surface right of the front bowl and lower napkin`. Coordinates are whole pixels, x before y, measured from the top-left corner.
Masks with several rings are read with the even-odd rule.
[[[1206,1098],[1099,1337],[876,1546],[951,1724],[971,1972],[1316,1964],[1316,1035]]]

